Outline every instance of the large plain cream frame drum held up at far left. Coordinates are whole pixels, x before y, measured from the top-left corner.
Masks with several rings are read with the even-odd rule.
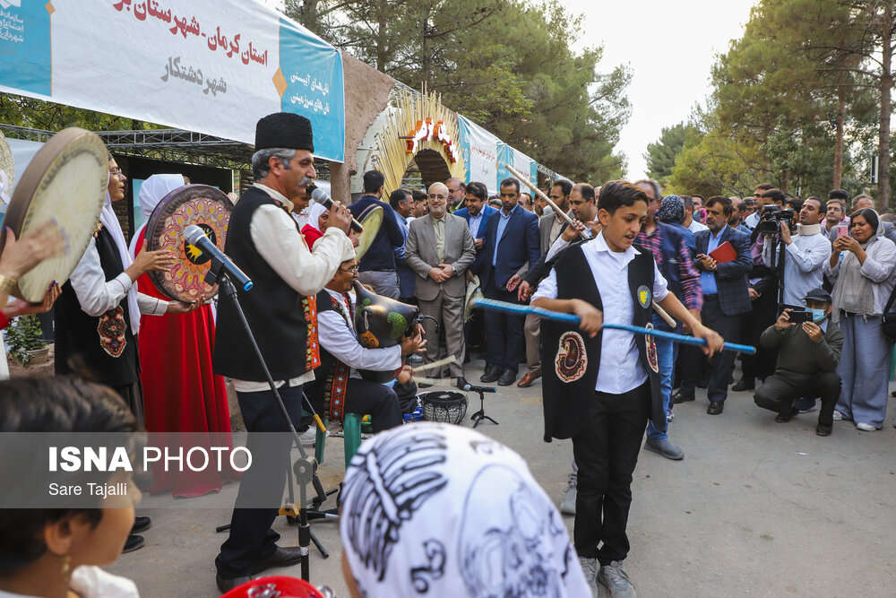
[[[50,282],[62,286],[81,261],[97,229],[108,186],[108,152],[96,134],[71,127],[53,135],[19,179],[4,218],[15,238],[47,220],[65,237],[65,251],[47,258],[19,279],[13,295],[31,303],[44,299]]]

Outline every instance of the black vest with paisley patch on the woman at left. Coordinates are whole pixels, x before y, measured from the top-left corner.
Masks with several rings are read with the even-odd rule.
[[[115,240],[105,228],[96,234],[96,246],[107,282],[125,271]],[[126,296],[102,316],[88,316],[69,281],[62,285],[53,313],[57,375],[79,374],[108,386],[131,385],[139,379],[137,339],[131,331]]]

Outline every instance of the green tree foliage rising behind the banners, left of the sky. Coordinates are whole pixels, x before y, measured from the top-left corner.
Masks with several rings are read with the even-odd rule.
[[[286,12],[566,176],[625,171],[613,148],[631,112],[631,74],[600,73],[601,48],[573,53],[582,18],[557,0],[288,0]]]

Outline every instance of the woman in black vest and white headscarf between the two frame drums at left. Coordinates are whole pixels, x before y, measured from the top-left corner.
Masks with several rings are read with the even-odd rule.
[[[125,198],[125,175],[109,156],[106,203],[97,230],[75,266],[62,295],[56,301],[56,375],[80,374],[112,386],[124,399],[138,424],[143,423],[140,363],[137,333],[140,315],[186,313],[195,306],[164,301],[137,292],[134,285],[142,273],[164,270],[174,264],[166,251],[143,251],[132,260],[125,233],[112,202]],[[145,249],[145,247],[144,247]],[[134,531],[149,527],[149,517],[138,517]],[[143,544],[132,535],[125,552]]]

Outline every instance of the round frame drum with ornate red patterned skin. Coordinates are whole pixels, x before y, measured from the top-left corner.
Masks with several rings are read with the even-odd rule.
[[[171,299],[192,303],[214,289],[205,282],[211,261],[184,240],[186,227],[195,224],[224,250],[233,204],[220,189],[208,185],[181,186],[165,195],[146,224],[147,249],[169,249],[177,261],[169,270],[149,273],[156,288]]]

